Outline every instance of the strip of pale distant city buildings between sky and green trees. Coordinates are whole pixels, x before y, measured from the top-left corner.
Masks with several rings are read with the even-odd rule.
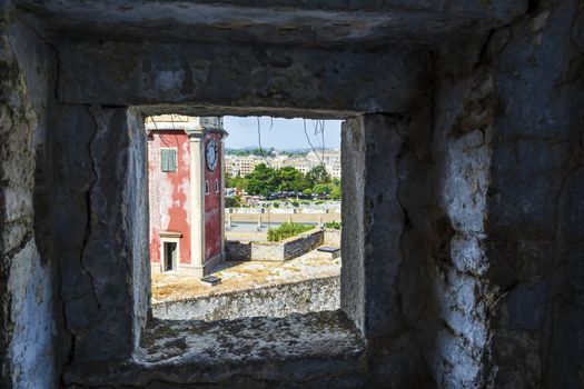
[[[340,150],[325,150],[324,153],[311,151],[306,157],[289,157],[281,153],[276,153],[275,157],[226,156],[225,171],[234,177],[237,174],[246,177],[260,163],[266,163],[275,169],[291,167],[305,174],[313,168],[324,164],[330,177],[340,178]]]

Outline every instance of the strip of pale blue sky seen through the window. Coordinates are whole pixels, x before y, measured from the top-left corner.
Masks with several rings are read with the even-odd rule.
[[[224,127],[229,137],[225,143],[230,149],[241,149],[247,147],[258,147],[258,117],[224,117]],[[340,120],[311,120],[306,119],[306,132],[310,142],[316,149],[323,147],[323,136],[319,132],[315,136],[315,127],[325,127],[325,148],[340,148]],[[261,133],[261,148],[286,149],[310,149],[310,144],[304,132],[303,119],[281,119],[270,117],[259,117],[259,128]],[[271,130],[270,130],[271,127]]]

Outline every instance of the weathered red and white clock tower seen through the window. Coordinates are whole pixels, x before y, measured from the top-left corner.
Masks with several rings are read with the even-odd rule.
[[[156,116],[146,129],[152,269],[204,277],[225,260],[222,118]]]

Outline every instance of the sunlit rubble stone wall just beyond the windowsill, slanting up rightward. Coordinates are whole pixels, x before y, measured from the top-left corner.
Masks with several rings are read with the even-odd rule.
[[[290,313],[337,310],[340,278],[315,278],[298,282],[237,290],[196,299],[152,305],[152,316],[165,320],[222,320],[247,317],[283,318]]]

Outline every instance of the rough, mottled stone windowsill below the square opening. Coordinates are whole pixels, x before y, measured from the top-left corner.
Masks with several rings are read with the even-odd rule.
[[[152,319],[136,360],[71,368],[65,383],[220,383],[241,376],[308,382],[364,373],[364,349],[360,336],[340,311],[214,322]]]

